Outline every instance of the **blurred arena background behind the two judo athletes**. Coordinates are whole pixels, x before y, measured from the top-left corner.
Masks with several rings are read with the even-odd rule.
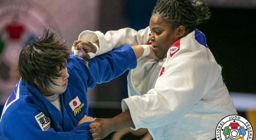
[[[239,115],[256,130],[256,0],[205,0],[212,17],[199,27],[222,74]],[[54,29],[70,46],[84,30],[103,33],[149,25],[156,0],[0,0],[0,113],[19,74],[21,49],[43,26]],[[127,76],[97,85],[88,91],[90,115],[111,118],[122,112],[127,95]],[[1,115],[0,115],[1,116]],[[217,125],[217,124],[216,124]],[[255,134],[255,133],[254,133]],[[105,139],[146,139],[146,131],[111,133]],[[254,138],[256,139],[256,138]]]

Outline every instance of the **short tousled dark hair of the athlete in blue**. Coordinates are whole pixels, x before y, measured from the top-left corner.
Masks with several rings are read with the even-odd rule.
[[[41,38],[35,38],[20,53],[18,69],[22,79],[32,86],[35,79],[44,89],[50,87],[49,83],[57,85],[53,78],[60,76],[59,70],[66,68],[66,61],[69,63],[68,50],[66,41],[53,30],[44,28]]]

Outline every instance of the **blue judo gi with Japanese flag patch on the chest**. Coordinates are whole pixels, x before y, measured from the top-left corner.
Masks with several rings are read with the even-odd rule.
[[[91,122],[77,126],[88,115],[87,88],[108,82],[136,65],[136,56],[128,45],[93,59],[71,55],[67,64],[68,86],[60,95],[62,114],[21,78],[4,105],[0,139],[91,140]]]

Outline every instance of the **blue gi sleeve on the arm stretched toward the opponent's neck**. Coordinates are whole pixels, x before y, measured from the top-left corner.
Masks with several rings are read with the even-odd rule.
[[[129,45],[87,61],[89,69],[85,74],[88,76],[88,88],[93,88],[96,83],[108,82],[137,66],[135,53]]]

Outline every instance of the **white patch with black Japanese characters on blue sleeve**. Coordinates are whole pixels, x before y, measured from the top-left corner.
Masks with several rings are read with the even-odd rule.
[[[44,115],[43,112],[37,114],[35,116],[35,119],[43,131],[50,128],[50,124],[51,124],[50,118]]]

